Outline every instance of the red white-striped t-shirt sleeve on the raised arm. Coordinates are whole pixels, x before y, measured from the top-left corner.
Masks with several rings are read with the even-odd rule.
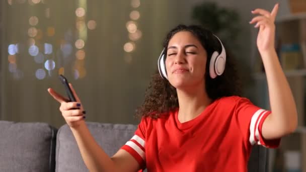
[[[241,98],[235,108],[238,125],[241,128],[247,142],[251,145],[258,144],[267,148],[277,148],[279,139],[266,140],[262,136],[262,125],[265,119],[271,114],[271,111],[261,109],[246,98]]]

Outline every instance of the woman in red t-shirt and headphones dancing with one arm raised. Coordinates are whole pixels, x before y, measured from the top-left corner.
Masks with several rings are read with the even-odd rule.
[[[278,4],[250,24],[266,70],[271,111],[239,97],[231,58],[221,41],[198,26],[179,25],[165,40],[135,135],[112,157],[95,142],[83,120],[81,101],[48,89],[77,140],[90,171],[247,171],[252,145],[275,148],[295,130],[295,103],[274,48]],[[224,68],[225,67],[225,68]],[[73,108],[80,108],[75,110]]]

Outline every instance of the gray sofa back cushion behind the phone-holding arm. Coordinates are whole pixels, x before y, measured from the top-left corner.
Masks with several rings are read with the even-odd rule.
[[[130,124],[103,124],[87,122],[87,126],[104,151],[112,156],[134,134],[137,126]],[[63,125],[57,132],[56,167],[57,172],[88,171],[81,157],[77,142],[68,125]]]

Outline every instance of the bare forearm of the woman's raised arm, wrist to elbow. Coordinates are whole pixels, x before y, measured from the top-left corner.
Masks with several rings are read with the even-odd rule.
[[[261,54],[266,71],[271,117],[275,126],[292,132],[297,124],[295,102],[275,50]]]

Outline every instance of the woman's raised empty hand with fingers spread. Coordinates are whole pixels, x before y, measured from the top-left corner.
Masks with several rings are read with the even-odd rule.
[[[259,14],[259,16],[256,16],[251,20],[250,24],[256,23],[255,28],[259,27],[257,47],[261,54],[275,50],[274,21],[278,11],[278,6],[279,5],[276,4],[271,13],[263,9],[255,9],[252,11],[252,14]]]

